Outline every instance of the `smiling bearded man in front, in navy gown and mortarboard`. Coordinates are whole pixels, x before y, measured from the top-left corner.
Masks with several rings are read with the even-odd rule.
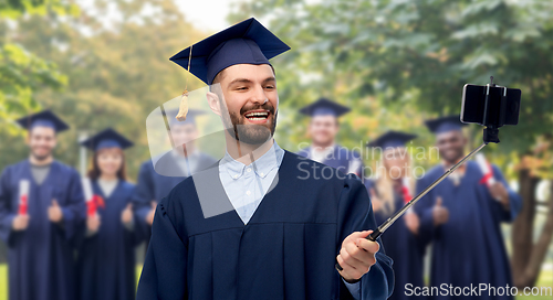
[[[210,85],[227,152],[159,202],[137,299],[389,296],[392,260],[365,238],[376,224],[363,183],[333,168],[323,178],[323,164],[272,139],[279,97],[268,60],[288,50],[254,19],[194,45],[189,69]],[[171,60],[186,67],[189,53]]]

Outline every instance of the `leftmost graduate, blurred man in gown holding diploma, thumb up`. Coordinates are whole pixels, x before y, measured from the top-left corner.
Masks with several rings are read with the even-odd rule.
[[[77,171],[52,157],[56,135],[69,127],[49,110],[18,122],[29,130],[31,154],[0,178],[9,299],[73,300],[73,243],[85,216],[84,196]]]

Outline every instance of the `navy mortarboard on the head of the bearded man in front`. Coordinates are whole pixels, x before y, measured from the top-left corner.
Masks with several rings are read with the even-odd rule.
[[[186,69],[190,66],[190,73],[210,85],[219,72],[231,65],[270,64],[269,60],[289,50],[289,45],[251,18],[194,44],[191,58],[187,47],[169,60]]]

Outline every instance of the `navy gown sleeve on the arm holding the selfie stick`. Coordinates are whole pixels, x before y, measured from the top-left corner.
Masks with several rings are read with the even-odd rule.
[[[376,229],[373,207],[368,193],[363,183],[355,175],[348,175],[340,196],[338,204],[338,236],[336,255],[340,253],[342,242],[352,233]],[[393,260],[385,254],[384,246],[378,238],[380,249],[376,254],[376,264],[361,279],[361,299],[387,299],[394,290]],[[343,282],[340,280],[340,299],[354,299]]]

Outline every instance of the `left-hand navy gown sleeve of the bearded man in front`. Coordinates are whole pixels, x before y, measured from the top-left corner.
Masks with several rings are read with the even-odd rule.
[[[170,197],[170,195],[169,195]],[[175,229],[175,210],[168,197],[156,208],[152,239],[138,282],[137,300],[188,299],[186,242]],[[158,271],[163,270],[163,271]]]

